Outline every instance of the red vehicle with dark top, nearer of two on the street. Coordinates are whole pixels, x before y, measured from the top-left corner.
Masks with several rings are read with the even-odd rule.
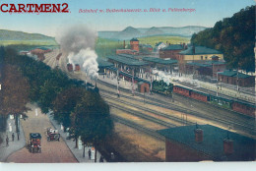
[[[31,133],[28,148],[32,153],[41,152],[41,135],[39,133]]]

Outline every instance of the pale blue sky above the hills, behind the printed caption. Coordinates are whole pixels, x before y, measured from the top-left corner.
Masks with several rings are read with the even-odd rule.
[[[127,27],[214,27],[215,23],[254,0],[0,0],[0,5],[30,3],[68,3],[70,13],[9,14],[0,12],[0,29],[22,30],[55,36],[58,30],[70,25],[87,25],[96,31],[122,30]],[[195,9],[194,12],[147,13],[79,13],[80,9]]]

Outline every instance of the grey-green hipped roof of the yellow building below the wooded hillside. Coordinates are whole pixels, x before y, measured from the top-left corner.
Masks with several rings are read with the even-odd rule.
[[[179,52],[181,55],[193,55],[193,46],[188,47],[188,49]],[[203,54],[222,54],[222,52],[210,49],[204,46],[195,46],[195,55],[203,55]]]

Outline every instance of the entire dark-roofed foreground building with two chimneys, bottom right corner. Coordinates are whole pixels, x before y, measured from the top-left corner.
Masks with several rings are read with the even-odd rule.
[[[254,161],[255,140],[211,125],[158,131],[165,137],[165,161]]]

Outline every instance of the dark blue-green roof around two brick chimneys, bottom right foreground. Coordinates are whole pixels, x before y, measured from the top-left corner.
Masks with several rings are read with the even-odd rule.
[[[160,130],[158,133],[168,140],[180,142],[201,151],[216,161],[254,160],[255,141],[253,139],[211,125],[199,125],[198,128],[204,132],[201,143],[195,142],[195,125]],[[233,141],[233,153],[230,155],[224,154],[224,139],[226,139],[227,134],[229,139]]]

